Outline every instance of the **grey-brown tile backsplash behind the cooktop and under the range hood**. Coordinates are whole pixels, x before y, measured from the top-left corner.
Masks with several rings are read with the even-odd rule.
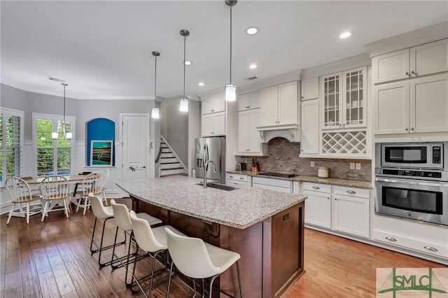
[[[260,171],[291,172],[296,175],[317,176],[319,166],[329,169],[330,178],[349,180],[372,180],[372,161],[370,159],[328,159],[304,158],[300,155],[300,143],[290,143],[283,138],[274,138],[268,143],[269,156],[257,157]],[[251,169],[252,157],[247,157],[247,169]],[[311,162],[314,161],[314,167]],[[359,163],[360,170],[350,169],[350,162]]]

